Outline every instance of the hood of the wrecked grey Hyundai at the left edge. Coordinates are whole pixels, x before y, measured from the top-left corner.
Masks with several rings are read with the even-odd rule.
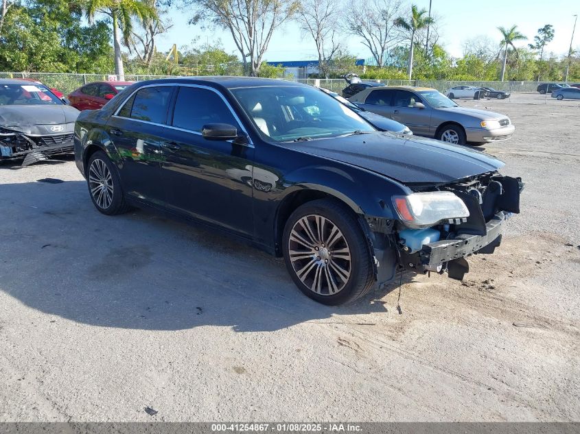
[[[51,131],[51,125],[74,123],[79,113],[64,104],[0,106],[0,126],[25,134],[45,134],[45,130]],[[42,131],[35,132],[38,128]]]

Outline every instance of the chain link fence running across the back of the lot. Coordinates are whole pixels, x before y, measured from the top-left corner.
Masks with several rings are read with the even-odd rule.
[[[155,78],[172,77],[171,75],[131,75],[125,74],[124,80],[130,82],[139,82],[143,80],[153,80]],[[0,73],[0,78],[24,78],[27,80],[38,80],[43,82],[46,86],[56,88],[65,95],[71,93],[76,88],[83,86],[90,82],[100,82],[106,80],[115,80],[117,78],[112,74],[72,74],[72,73],[15,73],[6,72]],[[287,78],[283,80],[290,80],[294,82],[301,82],[311,84],[312,86],[320,86],[327,88],[330,91],[340,93],[345,86],[345,80],[338,79],[292,79]],[[449,89],[455,86],[486,86],[494,88],[498,91],[505,91],[509,93],[535,93],[537,82],[459,82],[448,80],[364,80],[380,82],[386,86],[422,86],[435,88],[437,91],[448,93]]]

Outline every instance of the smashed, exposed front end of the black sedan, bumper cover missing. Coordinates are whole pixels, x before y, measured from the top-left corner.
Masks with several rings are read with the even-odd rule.
[[[491,254],[500,245],[504,220],[512,213],[520,213],[523,187],[521,178],[498,173],[438,186],[411,186],[417,193],[407,197],[455,198],[445,203],[395,202],[402,217],[395,226],[399,265],[423,274],[447,271],[450,278],[462,280],[469,272],[465,256]],[[445,218],[427,226],[421,221],[423,214]]]

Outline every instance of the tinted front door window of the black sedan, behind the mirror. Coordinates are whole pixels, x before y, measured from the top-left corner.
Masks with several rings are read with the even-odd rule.
[[[175,101],[172,125],[201,132],[207,123],[229,123],[240,128],[220,95],[207,89],[180,87]]]

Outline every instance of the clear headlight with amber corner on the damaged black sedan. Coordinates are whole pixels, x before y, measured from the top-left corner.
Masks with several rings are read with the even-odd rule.
[[[446,219],[469,217],[469,210],[450,191],[431,191],[394,196],[397,214],[409,228],[427,228]]]

